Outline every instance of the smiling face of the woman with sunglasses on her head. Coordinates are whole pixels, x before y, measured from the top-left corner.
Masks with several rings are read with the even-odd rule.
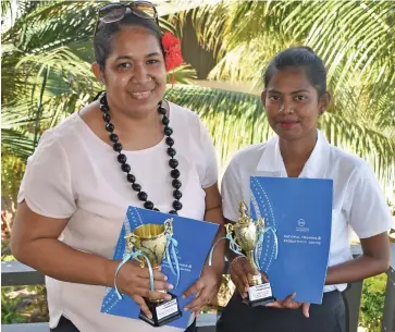
[[[147,28],[123,26],[114,36],[103,77],[110,106],[144,116],[163,98],[166,72],[158,38]]]

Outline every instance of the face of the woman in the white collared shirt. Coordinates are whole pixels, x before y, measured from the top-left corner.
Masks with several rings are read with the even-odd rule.
[[[269,124],[286,140],[316,135],[318,116],[329,101],[329,94],[319,98],[305,71],[298,67],[276,71],[262,93]]]

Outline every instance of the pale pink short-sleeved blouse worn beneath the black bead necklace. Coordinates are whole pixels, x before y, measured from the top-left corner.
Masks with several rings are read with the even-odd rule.
[[[218,181],[213,144],[197,114],[169,102],[170,126],[180,162],[183,209],[180,216],[202,220],[203,188]],[[164,138],[156,146],[123,151],[132,171],[161,211],[172,210],[173,190]],[[120,169],[116,152],[87,126],[78,113],[47,131],[28,159],[18,194],[36,213],[70,218],[60,239],[69,246],[112,258],[129,205],[143,207]],[[141,320],[101,313],[106,287],[46,278],[50,328],[63,315],[82,332],[175,332]]]

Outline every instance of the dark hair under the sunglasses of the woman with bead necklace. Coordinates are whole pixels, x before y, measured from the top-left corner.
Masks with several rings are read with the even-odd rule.
[[[136,11],[136,10],[135,10]],[[141,14],[144,16],[144,13]],[[101,67],[104,67],[106,60],[112,51],[112,42],[114,35],[122,29],[122,26],[141,26],[150,30],[158,38],[158,42],[164,57],[164,50],[161,42],[162,33],[155,20],[143,19],[129,11],[126,11],[125,16],[113,23],[99,22],[94,37],[95,59]]]

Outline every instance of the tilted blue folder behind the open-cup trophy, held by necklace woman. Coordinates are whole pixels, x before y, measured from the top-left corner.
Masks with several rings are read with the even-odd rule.
[[[146,223],[163,224],[164,220],[173,219],[173,237],[178,242],[176,249],[181,276],[178,287],[170,292],[178,297],[178,306],[183,310],[183,307],[192,302],[195,295],[190,295],[186,299],[182,299],[181,296],[199,279],[219,225],[135,207],[127,209],[126,217],[113,255],[114,260],[122,260],[126,245],[124,236],[135,228]],[[168,282],[175,286],[176,278],[172,274],[166,260],[162,262],[162,272],[169,278]],[[101,312],[138,319],[140,308],[129,296],[124,294],[122,296],[123,299],[119,299],[115,288],[107,288]],[[189,318],[190,311],[183,311],[183,316],[170,322],[169,325],[186,329]]]

